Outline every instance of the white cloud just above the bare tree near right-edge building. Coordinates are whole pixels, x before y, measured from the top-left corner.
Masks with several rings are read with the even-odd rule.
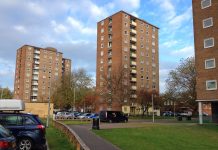
[[[182,49],[172,51],[171,55],[174,56],[184,56],[184,57],[191,57],[194,56],[194,47],[193,46],[187,46]]]

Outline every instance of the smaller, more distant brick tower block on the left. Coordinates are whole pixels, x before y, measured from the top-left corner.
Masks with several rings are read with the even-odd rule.
[[[71,60],[55,48],[24,45],[17,50],[14,98],[48,102],[50,86],[71,72]]]

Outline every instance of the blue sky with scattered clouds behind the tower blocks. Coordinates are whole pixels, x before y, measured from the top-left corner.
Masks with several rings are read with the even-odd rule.
[[[97,22],[126,11],[160,28],[160,92],[182,58],[194,56],[191,0],[0,0],[0,86],[13,90],[16,51],[55,47],[95,79]]]

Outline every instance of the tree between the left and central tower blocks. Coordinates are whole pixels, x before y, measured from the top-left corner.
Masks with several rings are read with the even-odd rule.
[[[76,104],[79,104],[85,98],[93,86],[93,80],[84,69],[78,69],[65,75],[54,85],[56,86],[52,92],[52,100],[55,107],[69,109],[74,106],[74,100]]]

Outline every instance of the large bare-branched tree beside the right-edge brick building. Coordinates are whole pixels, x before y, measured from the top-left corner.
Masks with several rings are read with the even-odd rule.
[[[166,80],[166,93],[170,99],[196,110],[196,74],[194,58],[182,59],[179,66],[170,71]]]

